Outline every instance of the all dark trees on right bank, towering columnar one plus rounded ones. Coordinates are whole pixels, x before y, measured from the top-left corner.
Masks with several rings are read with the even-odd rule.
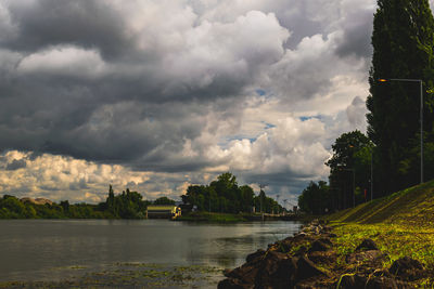
[[[353,131],[335,141],[326,163],[329,184],[312,182],[299,196],[306,212],[346,209],[434,178],[434,17],[429,1],[378,0],[371,40],[367,135]]]

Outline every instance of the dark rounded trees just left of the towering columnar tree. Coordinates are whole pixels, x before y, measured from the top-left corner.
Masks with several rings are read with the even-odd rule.
[[[310,182],[298,197],[301,210],[323,214],[371,199],[371,169],[374,146],[360,131],[343,133],[332,145],[329,184]]]

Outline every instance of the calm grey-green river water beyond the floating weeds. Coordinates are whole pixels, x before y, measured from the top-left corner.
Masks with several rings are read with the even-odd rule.
[[[64,278],[117,262],[234,267],[299,229],[295,222],[197,224],[166,220],[1,220],[0,280]],[[56,270],[59,268],[59,270]],[[67,276],[66,276],[67,277]]]

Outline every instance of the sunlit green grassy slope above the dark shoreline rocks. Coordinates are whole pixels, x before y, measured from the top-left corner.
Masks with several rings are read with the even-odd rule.
[[[409,255],[434,272],[434,181],[327,219],[335,226],[336,247],[342,254],[354,251],[362,239],[371,238],[390,257],[384,267]],[[421,281],[433,283],[433,277]]]

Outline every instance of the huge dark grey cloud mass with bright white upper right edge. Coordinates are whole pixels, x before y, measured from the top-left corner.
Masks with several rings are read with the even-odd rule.
[[[225,109],[219,98],[234,106],[233,97],[263,66],[279,60],[288,32],[273,15],[260,12],[225,25],[188,26],[191,12],[181,8],[184,15],[177,21],[187,28],[169,23],[169,34],[181,36],[174,42],[164,21],[155,31],[131,32],[137,24],[127,24],[130,15],[105,3],[8,2],[15,35],[0,38],[5,71],[0,77],[0,149],[149,170],[204,166],[178,160],[184,141],[201,134],[209,111]],[[264,39],[252,32],[250,22],[265,29]],[[196,49],[183,39],[189,34],[197,34]],[[155,47],[146,47],[149,39]],[[208,47],[221,55],[207,53]]]

